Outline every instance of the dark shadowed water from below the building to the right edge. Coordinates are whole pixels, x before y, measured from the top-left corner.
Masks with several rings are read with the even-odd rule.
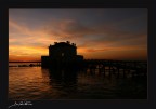
[[[147,95],[146,77],[116,78],[108,72],[73,69],[42,69],[42,74],[55,99],[135,99]]]

